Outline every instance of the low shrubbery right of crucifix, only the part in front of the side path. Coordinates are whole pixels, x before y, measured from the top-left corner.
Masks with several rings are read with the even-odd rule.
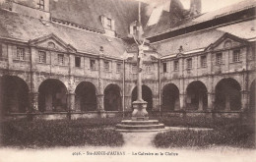
[[[179,131],[160,133],[155,137],[157,147],[209,147],[227,145],[255,148],[255,131],[247,125],[226,126],[214,131]]]

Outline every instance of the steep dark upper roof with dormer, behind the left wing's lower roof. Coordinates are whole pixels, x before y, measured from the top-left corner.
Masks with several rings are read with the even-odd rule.
[[[104,30],[100,16],[115,21],[116,33],[124,37],[130,24],[138,19],[138,2],[134,0],[50,0],[51,17],[82,26]]]

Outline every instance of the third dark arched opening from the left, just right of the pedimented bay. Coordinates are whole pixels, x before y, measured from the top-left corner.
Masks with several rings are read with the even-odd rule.
[[[75,90],[76,110],[96,110],[96,86],[92,82],[80,82]]]

